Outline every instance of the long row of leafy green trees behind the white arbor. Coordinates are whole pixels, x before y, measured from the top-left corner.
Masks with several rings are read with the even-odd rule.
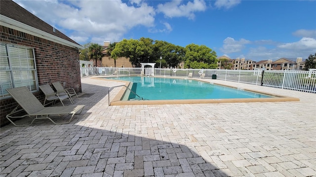
[[[118,57],[129,58],[134,67],[140,67],[142,62],[156,62],[156,67],[159,67],[160,57],[162,67],[177,67],[181,62],[185,63],[185,68],[217,67],[216,52],[205,45],[189,44],[181,47],[144,37],[118,42],[112,50],[111,58]]]

